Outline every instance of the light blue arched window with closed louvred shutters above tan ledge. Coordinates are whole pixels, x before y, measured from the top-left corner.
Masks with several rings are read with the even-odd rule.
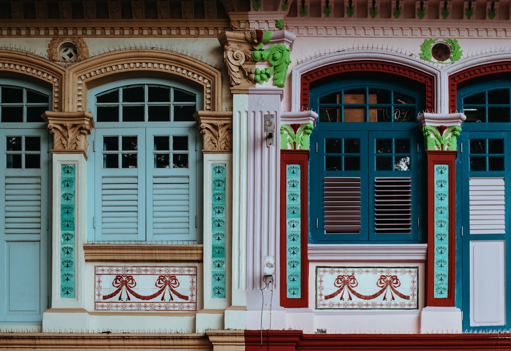
[[[95,233],[100,242],[194,244],[202,94],[175,82],[129,80],[92,91]]]

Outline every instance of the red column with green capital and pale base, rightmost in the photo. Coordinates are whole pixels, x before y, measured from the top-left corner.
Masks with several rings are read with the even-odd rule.
[[[428,189],[427,307],[421,316],[421,331],[461,331],[461,313],[454,307],[456,281],[455,162],[456,138],[460,134],[461,123],[466,116],[461,113],[448,115],[423,113],[417,119],[423,125],[426,143]],[[450,315],[446,315],[446,313],[450,313]]]

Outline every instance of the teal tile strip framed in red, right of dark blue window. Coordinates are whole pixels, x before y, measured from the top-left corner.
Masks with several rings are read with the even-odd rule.
[[[435,298],[447,298],[449,278],[449,165],[434,166]]]

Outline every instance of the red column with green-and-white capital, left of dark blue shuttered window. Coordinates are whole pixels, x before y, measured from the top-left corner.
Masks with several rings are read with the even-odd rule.
[[[309,136],[317,114],[281,115],[280,293],[286,308],[308,306]]]

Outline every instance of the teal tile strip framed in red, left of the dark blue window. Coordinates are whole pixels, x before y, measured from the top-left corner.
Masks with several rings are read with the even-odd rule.
[[[286,291],[288,298],[300,298],[301,226],[300,165],[286,167]]]

